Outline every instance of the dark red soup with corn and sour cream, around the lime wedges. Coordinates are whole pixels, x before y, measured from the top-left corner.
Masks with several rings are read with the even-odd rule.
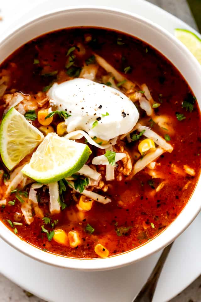
[[[74,84],[57,86],[78,77],[79,81]],[[86,80],[81,80],[84,78]],[[104,85],[97,84],[90,98],[92,81]],[[77,91],[73,89],[79,83],[87,89],[83,88],[74,101]],[[110,103],[108,96],[111,94],[112,101],[117,101],[115,105]],[[59,135],[66,135],[65,130],[84,130],[99,146],[118,136],[116,143],[107,148],[111,156],[105,157],[107,165],[92,164],[94,157],[104,155],[107,150],[88,143],[84,137],[75,137],[76,142],[88,143],[92,154],[86,165],[100,175],[94,180],[87,173],[80,173],[83,176],[78,173],[63,181],[63,190],[59,182],[61,209],[52,213],[47,184],[35,189],[37,204],[29,199],[30,187],[35,182],[29,177],[17,182],[11,188],[13,191],[6,194],[15,176],[1,161],[0,219],[20,238],[44,252],[97,258],[137,248],[174,221],[193,193],[201,156],[198,104],[179,71],[146,43],[100,28],[71,28],[48,33],[28,42],[1,64],[0,95],[1,118],[13,104],[25,116],[32,110],[32,125],[44,135],[50,129]],[[17,104],[13,100],[16,96],[22,96]],[[36,116],[46,108],[46,115],[63,110],[71,116],[65,119],[54,114],[52,122],[41,128]],[[86,115],[90,116],[88,120]],[[29,120],[29,116],[26,118]],[[62,133],[58,126],[61,122]],[[157,133],[162,141],[149,130]],[[151,148],[144,145],[145,139]],[[155,148],[159,155],[149,160]],[[59,146],[57,152],[60,152]],[[124,154],[116,166],[112,165],[114,152],[116,157],[118,153]],[[30,156],[18,166],[29,162]],[[138,169],[144,161],[144,167]],[[114,173],[114,179],[107,175],[109,172]],[[103,204],[100,200],[92,200],[84,196],[79,186],[76,192],[69,185],[76,180],[83,183],[85,190],[111,202]],[[86,208],[80,201],[81,196]],[[25,205],[30,208],[31,218],[22,210]]]

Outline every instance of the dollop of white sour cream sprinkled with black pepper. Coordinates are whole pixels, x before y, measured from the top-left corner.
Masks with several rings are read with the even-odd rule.
[[[108,141],[133,129],[139,113],[117,89],[87,79],[55,83],[47,93],[52,110],[64,110],[67,131],[84,130],[90,137]]]

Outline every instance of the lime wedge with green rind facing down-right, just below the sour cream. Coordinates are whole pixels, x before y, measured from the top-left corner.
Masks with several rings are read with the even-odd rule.
[[[90,154],[86,144],[48,133],[22,172],[37,182],[56,182],[79,171]]]

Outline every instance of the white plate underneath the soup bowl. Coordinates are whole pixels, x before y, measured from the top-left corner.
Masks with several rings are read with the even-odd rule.
[[[69,4],[94,5],[94,0],[74,0]],[[176,27],[193,31],[181,20],[143,0],[118,2],[96,0],[96,4],[130,10],[158,23],[171,33]],[[1,14],[4,19],[0,23],[0,31],[11,26],[11,20],[15,23],[14,20],[22,16],[30,18],[39,11],[64,6],[66,6],[65,0],[48,0],[42,3],[40,0],[34,3],[32,0],[20,0],[20,3],[12,0],[4,1],[1,4]],[[30,12],[23,15],[30,8]],[[201,215],[176,240],[161,273],[153,302],[168,301],[199,276],[201,272],[200,226]],[[113,271],[77,272],[32,260],[1,239],[0,250],[3,259],[0,261],[0,272],[19,286],[49,302],[66,302],[66,300],[68,302],[130,302],[143,286],[160,255],[160,253],[151,255],[136,264]]]

